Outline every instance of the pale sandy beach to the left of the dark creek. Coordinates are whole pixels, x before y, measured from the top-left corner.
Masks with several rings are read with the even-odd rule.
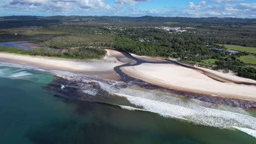
[[[106,79],[118,80],[114,67],[123,64],[110,54],[114,50],[107,50],[107,55],[103,59],[74,60],[54,57],[25,56],[12,53],[0,53],[0,61],[5,63],[15,63],[31,67],[42,68],[44,70],[61,70],[72,73],[96,75]],[[114,52],[113,52],[114,53]]]

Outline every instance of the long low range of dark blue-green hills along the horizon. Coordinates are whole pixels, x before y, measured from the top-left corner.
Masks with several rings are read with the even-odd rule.
[[[201,25],[256,25],[256,19],[240,19],[231,17],[159,17],[159,16],[3,16],[0,27],[44,26],[62,22],[98,22],[98,23],[199,23]]]

